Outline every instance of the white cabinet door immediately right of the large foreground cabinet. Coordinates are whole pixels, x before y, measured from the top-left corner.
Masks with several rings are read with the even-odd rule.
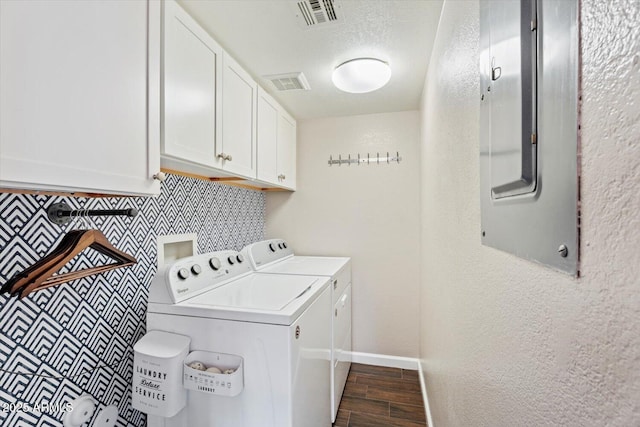
[[[222,49],[180,6],[164,4],[164,139],[162,153],[220,167]]]

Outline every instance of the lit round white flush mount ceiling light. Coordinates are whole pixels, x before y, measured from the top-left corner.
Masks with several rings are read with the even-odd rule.
[[[389,64],[375,58],[357,58],[343,62],[333,70],[331,80],[340,90],[367,93],[380,89],[391,78]]]

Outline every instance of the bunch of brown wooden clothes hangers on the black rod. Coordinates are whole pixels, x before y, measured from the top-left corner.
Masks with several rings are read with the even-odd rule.
[[[89,247],[110,257],[115,262],[54,275],[71,259]],[[103,273],[115,268],[127,267],[137,262],[135,257],[115,248],[100,230],[72,230],[64,236],[51,253],[9,279],[2,286],[1,291],[9,292],[11,295],[19,294],[20,299],[22,299],[31,292],[40,289]]]

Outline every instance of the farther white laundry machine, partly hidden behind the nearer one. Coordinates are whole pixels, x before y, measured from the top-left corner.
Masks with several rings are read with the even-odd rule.
[[[260,273],[325,276],[331,282],[331,421],[351,367],[351,258],[294,255],[282,239],[256,242],[242,254]]]

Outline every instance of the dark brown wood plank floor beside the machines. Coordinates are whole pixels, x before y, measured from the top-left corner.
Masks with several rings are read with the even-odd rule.
[[[334,427],[426,426],[418,371],[351,364]]]

